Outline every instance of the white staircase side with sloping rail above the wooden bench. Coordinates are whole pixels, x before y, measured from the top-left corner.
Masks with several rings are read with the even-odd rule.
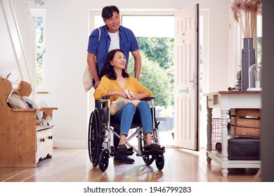
[[[0,0],[0,75],[13,80],[35,81],[35,18],[28,0]],[[3,23],[3,24],[2,24]],[[3,31],[2,31],[3,29]]]

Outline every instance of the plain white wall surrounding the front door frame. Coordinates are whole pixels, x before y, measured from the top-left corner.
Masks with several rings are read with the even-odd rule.
[[[182,9],[200,3],[209,9],[209,91],[228,87],[228,1],[204,0],[121,0],[123,9]],[[50,94],[38,101],[57,106],[56,147],[83,148],[87,145],[87,94],[82,86],[89,38],[89,9],[102,9],[113,1],[47,0],[46,8],[46,88]],[[164,24],[163,24],[164,25]]]

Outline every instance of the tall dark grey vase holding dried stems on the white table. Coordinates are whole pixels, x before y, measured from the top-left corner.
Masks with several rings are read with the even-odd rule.
[[[253,38],[244,38],[244,48],[242,48],[242,73],[241,90],[249,87],[249,67],[255,63],[255,49],[253,48]]]

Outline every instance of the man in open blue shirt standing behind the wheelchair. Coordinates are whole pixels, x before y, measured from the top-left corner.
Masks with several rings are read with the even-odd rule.
[[[105,6],[102,10],[102,18],[105,25],[94,29],[89,36],[87,62],[93,77],[93,87],[100,83],[100,73],[105,63],[105,57],[110,50],[121,49],[126,62],[129,62],[129,52],[134,59],[135,78],[139,80],[141,73],[141,55],[136,37],[133,32],[120,25],[119,9],[116,6]],[[97,61],[97,66],[96,66]],[[96,104],[97,105],[97,104]],[[115,130],[119,134],[119,130]],[[114,145],[117,148],[119,139],[114,137]],[[117,155],[115,162],[133,163],[134,160],[126,155]]]

